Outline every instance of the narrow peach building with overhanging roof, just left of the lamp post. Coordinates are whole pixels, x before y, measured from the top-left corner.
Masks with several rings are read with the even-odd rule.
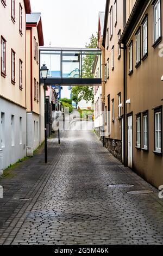
[[[32,156],[44,138],[44,90],[39,84],[39,46],[44,43],[41,14],[27,14],[26,22],[27,156]]]

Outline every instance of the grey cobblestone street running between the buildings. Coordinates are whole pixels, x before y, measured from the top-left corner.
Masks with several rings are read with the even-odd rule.
[[[68,131],[3,178],[1,245],[161,245],[163,200],[92,131]],[[130,187],[109,187],[127,184]],[[148,194],[129,194],[151,190]]]

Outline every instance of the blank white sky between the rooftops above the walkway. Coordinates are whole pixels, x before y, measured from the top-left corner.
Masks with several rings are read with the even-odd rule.
[[[41,13],[45,46],[83,48],[98,30],[98,13],[105,0],[30,0]]]

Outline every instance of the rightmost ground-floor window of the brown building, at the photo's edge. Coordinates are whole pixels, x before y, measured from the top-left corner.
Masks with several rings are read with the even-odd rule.
[[[155,151],[162,152],[162,109],[155,110]]]

